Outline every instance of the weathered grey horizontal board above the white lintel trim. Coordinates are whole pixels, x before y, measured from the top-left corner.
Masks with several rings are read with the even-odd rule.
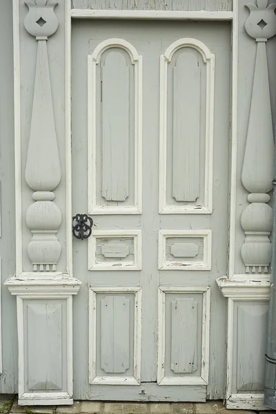
[[[232,10],[233,0],[72,0],[72,8],[227,12]]]

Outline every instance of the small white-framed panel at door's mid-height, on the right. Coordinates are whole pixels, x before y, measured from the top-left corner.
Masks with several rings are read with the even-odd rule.
[[[210,270],[211,230],[159,230],[160,270]]]

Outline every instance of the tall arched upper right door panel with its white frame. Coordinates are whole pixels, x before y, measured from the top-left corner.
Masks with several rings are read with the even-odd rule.
[[[215,55],[197,39],[160,61],[159,213],[212,213]]]

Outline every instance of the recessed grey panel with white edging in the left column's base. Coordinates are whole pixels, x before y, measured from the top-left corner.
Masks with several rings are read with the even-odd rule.
[[[23,299],[24,393],[61,393],[68,380],[66,299]]]

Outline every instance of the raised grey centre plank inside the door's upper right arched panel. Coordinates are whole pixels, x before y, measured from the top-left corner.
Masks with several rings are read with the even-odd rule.
[[[183,52],[173,68],[172,197],[199,197],[200,68],[197,57]]]

